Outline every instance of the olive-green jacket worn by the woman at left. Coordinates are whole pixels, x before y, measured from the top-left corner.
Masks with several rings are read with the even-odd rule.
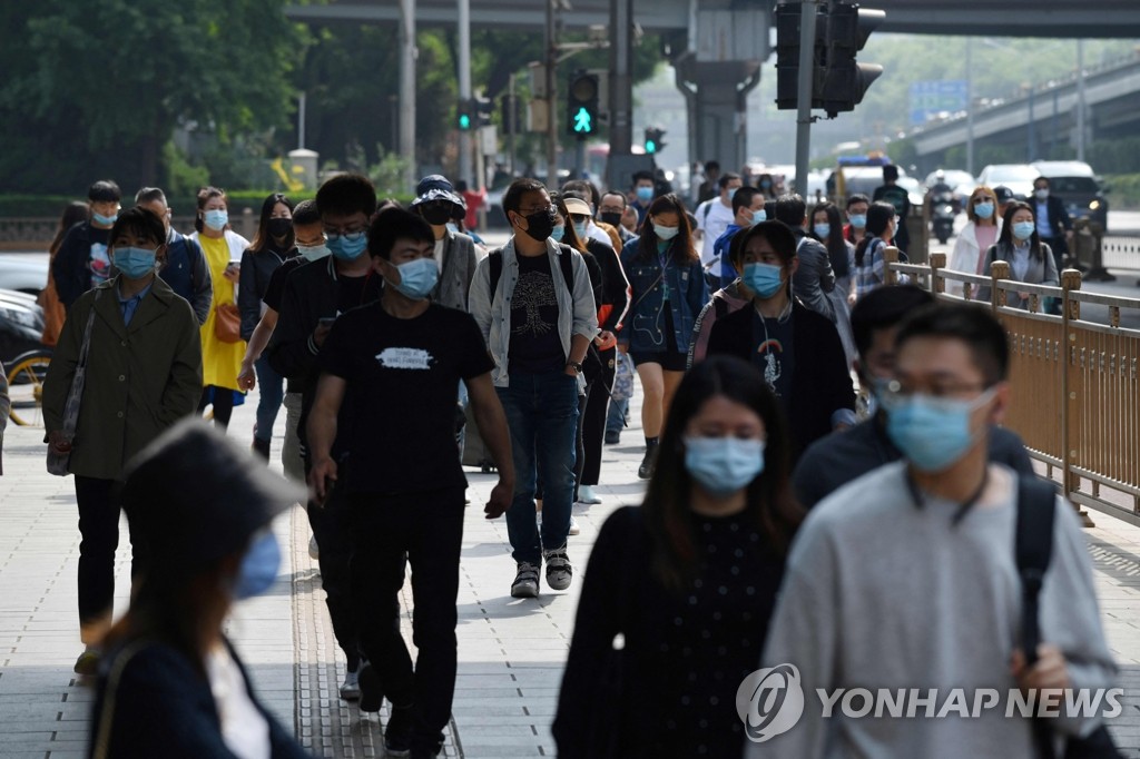
[[[84,293],[67,312],[43,381],[48,432],[63,429],[64,405],[93,305],[87,382],[72,442],[72,474],[122,476],[127,462],[185,416],[202,395],[202,340],[190,304],[155,277],[130,327],[119,277]],[[96,293],[101,296],[96,301]]]

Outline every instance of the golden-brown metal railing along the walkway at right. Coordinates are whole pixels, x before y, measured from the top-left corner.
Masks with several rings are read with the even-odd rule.
[[[939,300],[977,302],[997,317],[1012,389],[1003,424],[1074,504],[1140,525],[1140,329],[1121,326],[1122,312],[1140,313],[1140,299],[1082,292],[1075,269],[1051,287],[1010,279],[1005,261],[988,277],[947,270],[944,253],[929,266],[905,264],[888,248],[887,261],[888,284],[906,274]],[[1025,308],[1008,305],[1010,294],[1025,294]],[[1044,312],[1045,299],[1059,301],[1059,316]],[[1105,323],[1082,310],[1104,311]]]

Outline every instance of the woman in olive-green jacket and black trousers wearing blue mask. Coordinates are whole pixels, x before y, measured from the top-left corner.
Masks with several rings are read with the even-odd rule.
[[[156,276],[166,229],[146,209],[115,220],[108,238],[113,279],[72,305],[43,383],[48,442],[67,454],[75,475],[82,534],[79,562],[80,636],[87,650],[75,671],[93,674],[111,623],[119,545],[117,488],[127,460],[180,418],[202,393],[202,343],[190,304]],[[63,432],[76,367],[90,335],[87,375],[74,436]],[[156,501],[158,503],[158,501]],[[131,573],[146,563],[131,525]]]

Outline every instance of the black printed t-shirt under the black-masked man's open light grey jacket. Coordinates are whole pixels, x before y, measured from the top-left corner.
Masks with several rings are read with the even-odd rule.
[[[544,255],[518,256],[519,281],[511,301],[511,360],[507,370],[546,374],[565,368],[559,335],[559,300]],[[561,278],[561,274],[559,275]],[[561,281],[559,286],[564,286]]]

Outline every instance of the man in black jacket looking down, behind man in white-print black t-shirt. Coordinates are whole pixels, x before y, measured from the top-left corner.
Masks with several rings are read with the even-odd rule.
[[[376,189],[372,181],[360,174],[333,177],[317,190],[317,209],[331,254],[302,264],[288,275],[282,295],[280,316],[267,349],[270,365],[288,379],[291,389],[301,390],[296,435],[307,466],[312,465],[304,433],[317,392],[317,354],[333,321],[345,311],[376,301],[383,280],[373,271],[367,255],[368,225],[376,210]],[[342,434],[347,434],[352,426],[348,406],[341,409]],[[333,447],[334,458],[343,466],[347,455],[348,449],[337,439]],[[340,490],[334,489],[324,504],[310,503],[308,514],[319,546],[320,581],[328,595],[333,632],[348,660],[341,697],[356,699],[360,694],[357,680],[360,655],[349,596],[352,533]]]

